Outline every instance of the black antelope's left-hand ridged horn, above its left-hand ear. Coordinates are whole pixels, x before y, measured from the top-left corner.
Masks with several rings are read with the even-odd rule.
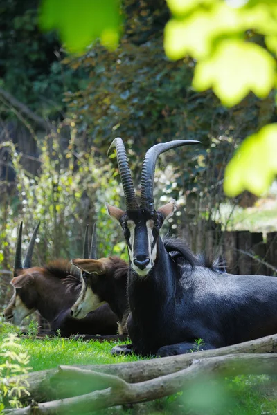
[[[114,139],[109,146],[108,154],[111,147],[116,147],[116,158],[118,163],[119,174],[123,185],[126,210],[138,210],[139,205],[136,202],[136,194],[134,192],[134,184],[131,171],[129,169],[127,154],[123,140],[120,137]]]

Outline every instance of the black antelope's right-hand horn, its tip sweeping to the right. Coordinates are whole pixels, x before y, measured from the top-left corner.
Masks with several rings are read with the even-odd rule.
[[[146,152],[145,158],[143,159],[143,167],[141,168],[141,208],[150,210],[150,212],[154,210],[153,185],[155,167],[159,155],[181,145],[199,144],[199,142],[195,140],[161,142],[153,145]]]

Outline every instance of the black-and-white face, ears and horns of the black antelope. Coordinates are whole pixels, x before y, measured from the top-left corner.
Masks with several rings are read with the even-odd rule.
[[[142,277],[148,275],[157,261],[159,230],[163,221],[175,210],[172,200],[158,210],[154,209],[153,186],[157,158],[164,151],[183,145],[197,144],[194,140],[175,140],[154,145],[145,154],[141,169],[141,205],[136,201],[132,175],[129,169],[125,146],[121,138],[115,138],[120,178],[125,195],[126,211],[106,203],[107,210],[123,228],[132,269]],[[111,148],[110,147],[110,148]]]

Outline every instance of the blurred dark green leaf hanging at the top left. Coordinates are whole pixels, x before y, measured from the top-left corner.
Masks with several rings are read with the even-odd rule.
[[[58,30],[71,52],[82,52],[98,38],[114,49],[120,35],[120,0],[44,0],[39,24],[43,30]]]

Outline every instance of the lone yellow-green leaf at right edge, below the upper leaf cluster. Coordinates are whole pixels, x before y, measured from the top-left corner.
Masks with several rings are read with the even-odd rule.
[[[227,165],[224,192],[237,196],[249,190],[265,193],[277,174],[277,124],[269,124],[247,137]]]

